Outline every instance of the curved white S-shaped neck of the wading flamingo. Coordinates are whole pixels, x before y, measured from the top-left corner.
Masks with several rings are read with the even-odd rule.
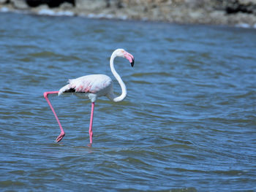
[[[114,67],[114,59],[116,58],[116,54],[113,53],[110,58],[110,69],[113,75],[116,77],[116,80],[118,81],[119,85],[121,86],[121,95],[113,98],[113,101],[118,102],[118,101],[123,101],[124,98],[127,96],[127,87],[124,85],[123,80],[121,80],[121,77],[119,74],[116,72],[116,69]]]

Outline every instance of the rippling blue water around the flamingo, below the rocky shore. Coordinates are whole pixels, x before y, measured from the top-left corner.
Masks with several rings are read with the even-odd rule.
[[[256,191],[253,29],[1,13],[1,191]],[[112,74],[120,103],[42,93]],[[115,80],[115,91],[120,88]]]

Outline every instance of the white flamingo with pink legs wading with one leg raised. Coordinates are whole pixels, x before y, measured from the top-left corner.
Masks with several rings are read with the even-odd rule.
[[[116,72],[116,69],[113,64],[113,61],[116,57],[127,58],[131,66],[134,65],[135,58],[133,57],[132,54],[128,53],[124,49],[114,50],[110,57],[111,72],[113,73],[114,77],[116,77],[116,80],[121,86],[120,96],[114,95],[113,81],[111,80],[110,77],[108,77],[105,74],[89,74],[83,77],[78,77],[76,79],[69,80],[68,81],[69,84],[65,85],[59,91],[47,91],[44,93],[44,97],[48,102],[50,109],[53,111],[53,115],[55,116],[57,122],[59,123],[59,128],[61,129],[61,134],[59,134],[59,137],[56,138],[56,142],[60,142],[61,139],[63,139],[63,137],[65,136],[65,132],[61,126],[58,116],[56,115],[56,112],[53,109],[52,104],[50,104],[48,95],[58,94],[60,96],[62,93],[75,93],[75,95],[77,96],[88,98],[91,100],[91,119],[90,119],[90,125],[89,125],[90,143],[88,145],[89,147],[91,147],[92,137],[93,137],[92,124],[93,124],[93,118],[94,118],[94,102],[97,100],[99,96],[107,96],[108,99],[115,102],[123,101],[124,98],[127,96],[127,88],[123,80],[119,76],[119,74]]]

